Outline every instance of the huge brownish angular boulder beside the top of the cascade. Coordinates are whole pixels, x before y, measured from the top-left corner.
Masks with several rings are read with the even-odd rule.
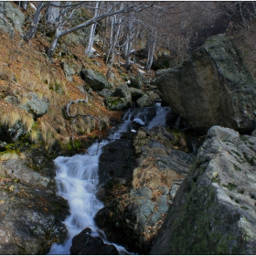
[[[157,85],[176,113],[206,133],[213,125],[250,130],[256,111],[256,82],[228,37],[209,37],[179,68],[159,70]]]

